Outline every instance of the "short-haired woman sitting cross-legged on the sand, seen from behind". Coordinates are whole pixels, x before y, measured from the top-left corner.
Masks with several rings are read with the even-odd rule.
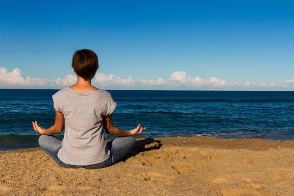
[[[112,123],[112,112],[116,102],[111,95],[91,85],[98,70],[98,57],[92,50],[81,49],[73,54],[73,72],[77,82],[52,96],[55,108],[55,123],[49,129],[37,121],[32,122],[35,131],[41,133],[40,147],[54,161],[65,168],[98,169],[118,162],[135,145],[133,135],[139,135],[146,128],[125,131]],[[62,142],[52,134],[61,133]],[[108,134],[122,136],[110,142]]]

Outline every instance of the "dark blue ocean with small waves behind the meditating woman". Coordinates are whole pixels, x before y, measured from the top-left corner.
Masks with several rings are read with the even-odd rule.
[[[31,122],[38,121],[45,128],[54,124],[51,96],[57,91],[0,89],[0,150],[39,146],[39,133]],[[114,125],[130,130],[140,123],[147,127],[140,137],[294,140],[294,92],[108,92],[118,103]]]

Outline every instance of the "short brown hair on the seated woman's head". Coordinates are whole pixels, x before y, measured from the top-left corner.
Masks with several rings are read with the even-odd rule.
[[[98,70],[98,57],[90,49],[77,50],[73,54],[74,72],[86,81],[91,81]]]

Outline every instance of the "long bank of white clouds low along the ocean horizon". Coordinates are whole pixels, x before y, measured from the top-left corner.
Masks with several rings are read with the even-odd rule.
[[[61,89],[73,85],[76,78],[73,74],[65,78],[42,79],[24,76],[20,69],[9,72],[0,68],[0,88],[32,88],[32,89]],[[184,71],[171,73],[169,79],[154,80],[134,79],[132,76],[121,78],[114,74],[96,73],[92,84],[102,89],[137,89],[137,90],[294,90],[294,79],[278,83],[255,83],[246,81],[226,81],[217,77],[203,79],[192,77]]]

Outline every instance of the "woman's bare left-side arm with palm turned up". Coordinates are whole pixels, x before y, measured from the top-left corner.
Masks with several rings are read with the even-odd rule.
[[[61,112],[57,112],[55,110],[55,123],[49,129],[45,129],[44,127],[41,126],[41,124],[38,124],[37,121],[32,123],[33,123],[33,128],[35,129],[35,131],[41,133],[42,135],[52,135],[52,134],[62,132],[64,128],[64,116]]]

